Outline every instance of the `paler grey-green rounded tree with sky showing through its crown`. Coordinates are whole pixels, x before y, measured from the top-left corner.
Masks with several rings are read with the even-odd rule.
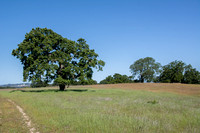
[[[155,62],[155,59],[146,57],[135,61],[130,66],[130,70],[133,74],[133,77],[138,76],[140,82],[151,82],[156,74],[159,74],[160,67],[160,63]]]

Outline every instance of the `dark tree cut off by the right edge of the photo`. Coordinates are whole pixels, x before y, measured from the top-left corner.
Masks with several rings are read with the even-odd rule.
[[[187,65],[185,67],[185,73],[183,75],[182,82],[187,84],[199,84],[200,72],[193,68],[192,65]]]

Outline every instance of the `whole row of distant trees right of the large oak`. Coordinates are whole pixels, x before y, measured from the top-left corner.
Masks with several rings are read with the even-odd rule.
[[[100,84],[133,82],[200,84],[200,72],[183,61],[175,60],[161,66],[152,57],[146,57],[135,61],[130,70],[132,76],[114,74],[106,77]]]

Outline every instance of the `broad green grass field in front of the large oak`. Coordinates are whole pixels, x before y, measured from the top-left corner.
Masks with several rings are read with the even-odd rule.
[[[41,133],[200,132],[197,96],[92,88],[0,91],[0,96],[20,105]],[[4,128],[1,123],[0,131]]]

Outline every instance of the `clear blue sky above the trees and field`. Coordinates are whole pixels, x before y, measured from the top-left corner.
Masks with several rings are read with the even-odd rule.
[[[1,0],[0,84],[22,82],[23,66],[11,52],[35,27],[85,38],[106,62],[94,72],[97,81],[131,75],[129,66],[147,56],[200,71],[200,0]]]

